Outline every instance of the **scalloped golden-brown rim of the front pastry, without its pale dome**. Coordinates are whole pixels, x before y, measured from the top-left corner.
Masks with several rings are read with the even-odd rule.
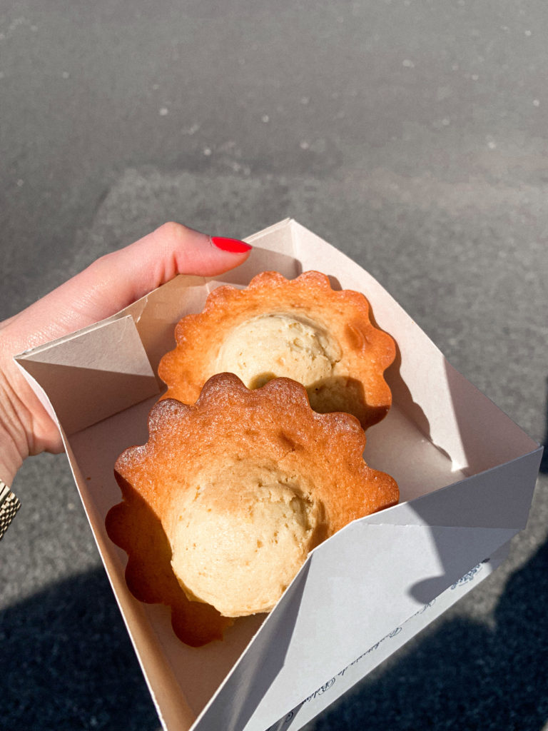
[[[173,501],[195,489],[203,470],[247,461],[296,476],[322,506],[319,539],[399,496],[392,477],[363,461],[365,434],[357,419],[313,412],[305,388],[291,379],[248,390],[237,376],[218,374],[194,406],[173,399],[153,406],[149,434],[146,444],[116,461],[124,501],[110,511],[107,532],[129,553],[131,591],[143,601],[171,605],[175,632],[189,644],[216,639],[229,624],[213,607],[186,599],[164,533]]]

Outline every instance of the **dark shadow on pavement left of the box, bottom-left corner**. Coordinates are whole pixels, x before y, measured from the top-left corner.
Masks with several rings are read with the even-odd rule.
[[[1,727],[160,727],[103,569],[0,613]]]

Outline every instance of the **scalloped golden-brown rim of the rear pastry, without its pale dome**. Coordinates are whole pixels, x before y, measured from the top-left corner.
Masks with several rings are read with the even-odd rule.
[[[384,418],[392,404],[384,371],[395,359],[394,341],[370,321],[364,295],[350,289],[335,291],[327,276],[316,271],[292,280],[262,272],[246,289],[214,289],[201,313],[183,317],[175,327],[177,345],[159,365],[159,376],[167,385],[162,398],[194,403],[216,372],[216,357],[227,333],[252,318],[276,313],[318,323],[340,347],[332,374],[308,387],[313,409],[349,412],[364,429]]]

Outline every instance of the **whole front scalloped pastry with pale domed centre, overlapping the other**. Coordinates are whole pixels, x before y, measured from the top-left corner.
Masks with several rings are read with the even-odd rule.
[[[189,644],[271,610],[316,545],[398,499],[365,464],[357,419],[313,412],[291,379],[248,390],[218,374],[193,406],[159,401],[148,425],[115,463],[124,501],[107,532],[129,554],[131,591],[171,605]]]

